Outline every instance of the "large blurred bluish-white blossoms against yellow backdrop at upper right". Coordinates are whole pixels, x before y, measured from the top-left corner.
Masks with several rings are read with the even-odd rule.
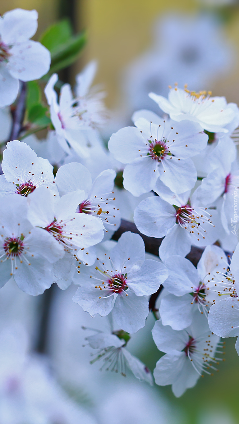
[[[195,90],[210,89],[232,66],[232,45],[212,16],[165,14],[151,28],[149,49],[124,71],[124,116],[125,109],[128,114],[139,108],[157,112],[148,93],[166,96],[167,87],[176,81]]]

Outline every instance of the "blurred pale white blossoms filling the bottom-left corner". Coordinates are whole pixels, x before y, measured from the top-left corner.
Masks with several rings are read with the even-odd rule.
[[[0,333],[0,360],[0,422],[96,424],[56,383],[46,361],[28,353],[28,337],[17,323]]]

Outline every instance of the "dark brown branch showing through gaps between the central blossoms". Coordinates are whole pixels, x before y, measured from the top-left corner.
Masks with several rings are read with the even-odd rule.
[[[147,236],[145,236],[144,234],[141,234],[141,232],[138,231],[136,225],[133,222],[129,222],[129,221],[122,219],[121,220],[121,226],[112,235],[112,240],[117,241],[120,238],[121,234],[123,234],[126,231],[131,231],[132,233],[139,234],[144,241],[145,251],[148,252],[148,253],[152,253],[153,255],[158,256],[158,249],[159,249],[160,244],[162,243],[163,238],[157,239],[155,237],[147,237]],[[202,256],[202,252],[203,252],[203,249],[192,246],[190,253],[188,253],[188,255],[186,256],[186,259],[190,260],[194,264],[194,266],[197,266],[197,263],[198,263],[200,257]],[[149,310],[151,310],[152,312],[157,311],[157,309],[155,308],[155,303],[156,303],[157,298],[158,298],[160,292],[162,291],[162,289],[163,289],[163,286],[160,285],[157,292],[153,293],[150,296]]]

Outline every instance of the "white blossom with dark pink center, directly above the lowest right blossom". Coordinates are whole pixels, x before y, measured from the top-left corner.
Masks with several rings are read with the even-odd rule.
[[[174,330],[183,330],[191,325],[194,312],[198,311],[208,318],[211,305],[220,300],[221,290],[229,296],[233,283],[226,279],[218,280],[228,273],[228,260],[221,248],[207,246],[197,268],[186,258],[173,255],[164,262],[169,277],[163,287],[169,292],[163,296],[159,312],[163,325]],[[227,290],[225,289],[225,283]],[[224,291],[223,291],[224,290]]]

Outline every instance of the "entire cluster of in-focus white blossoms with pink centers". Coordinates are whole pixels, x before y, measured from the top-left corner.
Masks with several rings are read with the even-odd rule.
[[[15,9],[0,19],[0,105],[6,106],[17,97],[18,77],[40,78],[50,56],[29,41],[35,11]],[[69,84],[54,89],[53,73],[45,86],[46,139],[27,137],[28,125],[19,134],[25,142],[10,140],[3,148],[0,287],[14,279],[36,296],[52,283],[62,290],[78,285],[73,301],[111,323],[111,332],[86,338],[97,349],[92,362],[123,375],[128,367],[149,384],[151,372],[126,347],[145,326],[150,296],[161,292],[152,335],[165,355],[154,377],[181,396],[217,370],[219,337],[239,335],[239,109],[175,85],[168,99],[149,94],[163,118],[135,112],[135,126],[112,134],[107,151],[98,131],[107,115],[104,94],[90,89],[95,72],[91,62],[77,75],[75,95]],[[143,195],[134,221],[141,234],[163,239],[155,259],[146,256],[139,234],[123,231],[110,240],[121,224],[117,187]],[[186,258],[192,246],[203,250],[197,268]]]

